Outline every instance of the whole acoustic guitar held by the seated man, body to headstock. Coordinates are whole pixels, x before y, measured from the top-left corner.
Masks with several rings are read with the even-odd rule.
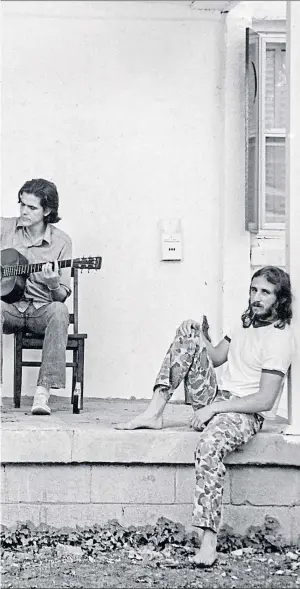
[[[49,260],[50,261],[50,260]],[[32,272],[40,272],[46,262],[30,264],[14,248],[1,251],[1,299],[6,303],[19,301],[25,290],[26,279]],[[100,270],[100,256],[58,260],[59,268],[78,268],[79,270]]]

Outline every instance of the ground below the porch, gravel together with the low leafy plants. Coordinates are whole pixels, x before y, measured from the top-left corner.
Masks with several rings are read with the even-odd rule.
[[[285,547],[278,526],[266,518],[243,537],[223,529],[218,561],[203,569],[190,562],[198,536],[166,518],[129,528],[115,520],[75,529],[20,522],[1,530],[1,587],[300,589],[300,542]]]

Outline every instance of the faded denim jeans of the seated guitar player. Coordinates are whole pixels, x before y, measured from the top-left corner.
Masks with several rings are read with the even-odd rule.
[[[54,301],[36,309],[32,303],[21,313],[14,304],[1,301],[1,382],[2,333],[10,334],[26,329],[44,334],[42,363],[37,385],[48,389],[66,386],[66,345],[69,311],[64,303]]]

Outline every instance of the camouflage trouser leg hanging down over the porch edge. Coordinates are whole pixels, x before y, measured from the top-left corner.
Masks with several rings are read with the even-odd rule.
[[[216,400],[231,396],[228,391],[219,391]],[[223,459],[248,442],[261,429],[263,421],[263,417],[253,413],[217,413],[204,427],[195,451],[194,526],[218,531],[226,472]]]

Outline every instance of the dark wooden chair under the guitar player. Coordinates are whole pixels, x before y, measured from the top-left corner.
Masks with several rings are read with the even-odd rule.
[[[66,362],[67,368],[72,368],[72,395],[73,413],[79,413],[83,409],[83,385],[84,385],[84,342],[86,333],[78,331],[78,268],[73,267],[73,313],[70,313],[70,325],[73,325],[73,333],[69,333],[67,350],[73,352],[73,362]],[[42,350],[43,335],[28,332],[18,332],[14,338],[14,404],[16,408],[21,405],[22,368],[23,366],[40,366],[39,361],[23,360],[23,350]]]

